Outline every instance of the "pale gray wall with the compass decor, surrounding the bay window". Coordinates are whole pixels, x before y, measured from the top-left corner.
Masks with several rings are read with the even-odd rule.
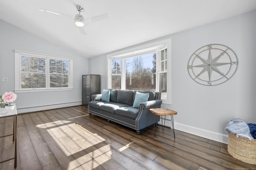
[[[256,123],[255,21],[253,11],[147,42],[172,39],[172,104],[162,107],[178,111],[174,116],[176,129],[226,143],[224,127],[229,119],[239,117]],[[223,84],[203,86],[190,78],[188,59],[200,47],[214,43],[235,51],[238,70]],[[106,89],[106,55],[89,59],[89,70],[102,75],[101,87]]]

